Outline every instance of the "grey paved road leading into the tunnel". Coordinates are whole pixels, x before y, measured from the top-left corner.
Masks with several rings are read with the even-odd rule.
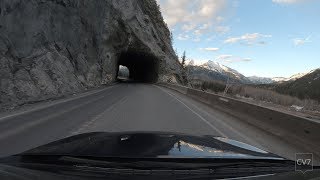
[[[167,131],[216,135],[293,159],[290,144],[175,91],[120,83],[0,116],[0,156],[97,131]]]

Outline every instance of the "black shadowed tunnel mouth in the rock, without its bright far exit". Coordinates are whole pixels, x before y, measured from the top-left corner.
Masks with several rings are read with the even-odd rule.
[[[132,81],[144,83],[158,81],[159,60],[151,54],[125,52],[120,55],[118,64],[129,69],[129,78]]]

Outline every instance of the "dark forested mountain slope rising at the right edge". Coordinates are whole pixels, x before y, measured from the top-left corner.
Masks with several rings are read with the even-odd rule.
[[[315,99],[320,102],[320,68],[301,75],[292,76],[291,81],[277,84],[274,90],[300,99]]]

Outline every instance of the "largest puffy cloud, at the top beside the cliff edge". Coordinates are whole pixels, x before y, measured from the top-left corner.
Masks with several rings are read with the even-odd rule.
[[[170,29],[179,28],[190,37],[178,40],[201,41],[208,33],[224,34],[230,30],[220,26],[226,12],[233,8],[229,0],[157,0],[165,22]],[[212,38],[208,38],[212,40]],[[207,39],[206,39],[207,40]]]

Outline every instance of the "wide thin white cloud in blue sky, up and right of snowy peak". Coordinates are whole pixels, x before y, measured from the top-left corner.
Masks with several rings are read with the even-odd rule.
[[[260,33],[252,33],[252,34],[244,34],[242,36],[239,37],[230,37],[227,38],[224,43],[227,44],[234,44],[237,42],[240,42],[241,44],[245,44],[245,45],[253,45],[253,44],[265,44],[265,41],[258,41],[258,39],[261,38],[270,38],[272,37],[271,35],[265,35],[265,34],[260,34]]]

